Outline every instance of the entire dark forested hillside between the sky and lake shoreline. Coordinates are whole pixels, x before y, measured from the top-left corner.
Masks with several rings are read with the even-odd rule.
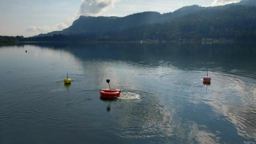
[[[256,0],[225,6],[186,6],[174,12],[125,17],[80,16],[69,28],[34,37],[0,36],[0,41],[256,40]]]

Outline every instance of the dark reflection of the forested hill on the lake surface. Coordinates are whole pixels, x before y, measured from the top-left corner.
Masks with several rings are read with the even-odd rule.
[[[18,45],[24,46],[24,43]],[[195,43],[29,43],[52,49],[70,51],[84,60],[108,59],[131,61],[142,65],[172,65],[178,69],[215,68],[225,71],[251,69],[256,64],[254,43],[212,44]],[[166,63],[167,61],[167,63]]]

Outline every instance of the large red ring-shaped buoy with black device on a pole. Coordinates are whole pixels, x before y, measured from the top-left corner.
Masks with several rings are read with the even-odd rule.
[[[115,99],[117,97],[121,96],[121,90],[120,89],[115,89],[115,88],[110,88],[109,82],[110,80],[106,80],[109,86],[109,89],[101,89],[100,90],[100,97],[103,99]]]

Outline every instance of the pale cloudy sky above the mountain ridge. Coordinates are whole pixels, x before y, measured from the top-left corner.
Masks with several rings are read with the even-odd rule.
[[[0,0],[0,36],[35,36],[63,30],[79,16],[173,12],[183,6],[217,6],[240,0]]]

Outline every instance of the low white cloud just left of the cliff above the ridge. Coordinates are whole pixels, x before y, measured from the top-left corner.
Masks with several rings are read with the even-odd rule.
[[[47,33],[55,30],[63,30],[64,28],[68,28],[68,25],[60,23],[55,26],[30,26],[26,29],[26,32]]]

